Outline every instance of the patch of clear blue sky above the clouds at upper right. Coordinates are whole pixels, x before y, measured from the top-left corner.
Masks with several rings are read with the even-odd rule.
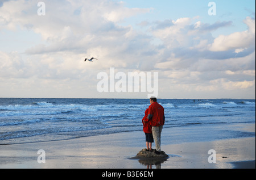
[[[222,34],[230,34],[234,31],[246,30],[246,25],[243,23],[243,19],[246,16],[251,16],[255,13],[255,2],[251,0],[246,1],[213,1],[216,3],[216,16],[209,16],[208,3],[212,1],[123,1],[125,5],[130,8],[152,8],[148,14],[142,14],[139,17],[133,18],[133,23],[139,23],[143,20],[151,22],[163,19],[179,19],[181,17],[196,17],[205,23],[214,23],[218,21],[232,21],[233,26],[226,28],[225,30],[218,32]]]

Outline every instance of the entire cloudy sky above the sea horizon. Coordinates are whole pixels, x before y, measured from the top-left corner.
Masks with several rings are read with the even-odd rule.
[[[0,98],[148,98],[129,73],[158,98],[255,99],[255,1],[0,0]]]

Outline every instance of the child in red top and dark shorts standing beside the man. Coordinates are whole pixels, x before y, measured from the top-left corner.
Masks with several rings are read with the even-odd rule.
[[[145,111],[145,116],[142,119],[142,123],[143,123],[143,131],[146,136],[146,146],[147,146],[146,151],[151,151],[152,143],[154,143],[154,139],[151,131],[152,127],[150,125],[150,122],[148,122],[147,115],[148,115],[148,108]]]

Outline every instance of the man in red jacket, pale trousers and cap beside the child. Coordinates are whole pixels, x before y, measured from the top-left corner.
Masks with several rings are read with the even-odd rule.
[[[165,121],[164,108],[158,102],[156,97],[150,98],[150,106],[148,107],[147,119],[150,120],[152,125],[152,135],[155,140],[155,153],[160,154],[161,152],[161,133]]]

